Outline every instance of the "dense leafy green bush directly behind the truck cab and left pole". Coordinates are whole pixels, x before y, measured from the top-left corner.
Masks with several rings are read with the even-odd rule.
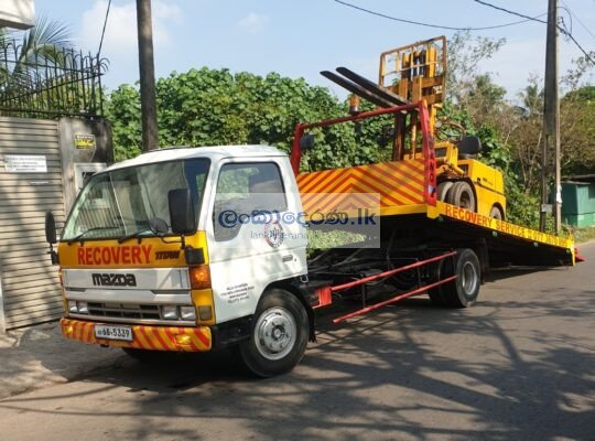
[[[137,88],[128,85],[110,94],[107,114],[115,122],[118,159],[140,151],[139,100]],[[159,79],[156,101],[162,147],[268,143],[289,151],[298,122],[344,112],[327,89],[303,78],[206,67]]]

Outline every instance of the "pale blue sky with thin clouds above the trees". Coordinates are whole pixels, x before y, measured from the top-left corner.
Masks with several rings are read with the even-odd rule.
[[[474,0],[345,0],[387,15],[447,26],[489,26],[521,20]],[[536,17],[547,0],[490,0]],[[564,22],[586,50],[595,50],[595,0],[560,0]],[[107,0],[35,0],[44,14],[69,26],[73,43],[97,52]],[[152,0],[155,74],[169,76],[193,67],[229,68],[266,75],[304,77],[312,85],[345,93],[320,71],[347,66],[370,79],[378,75],[381,52],[454,31],[394,22],[339,4],[335,0]],[[545,25],[537,22],[474,32],[506,37],[507,43],[479,67],[515,99],[531,75],[543,77]],[[104,84],[109,89],[139,78],[134,0],[112,0],[101,54],[109,60]],[[560,40],[560,73],[580,50]],[[592,76],[591,82],[595,80]]]

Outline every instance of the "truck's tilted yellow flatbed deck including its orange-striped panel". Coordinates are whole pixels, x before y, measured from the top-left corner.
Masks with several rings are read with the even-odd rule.
[[[354,213],[361,195],[375,195],[383,234],[397,229],[415,230],[430,240],[486,243],[490,266],[572,266],[575,262],[572,237],[547,233],[496,219],[429,197],[424,162],[388,161],[377,164],[325,170],[298,175],[303,209]],[[353,198],[340,200],[339,195]],[[357,197],[356,197],[357,196]],[[365,208],[364,205],[360,206]],[[385,237],[386,238],[386,237]]]

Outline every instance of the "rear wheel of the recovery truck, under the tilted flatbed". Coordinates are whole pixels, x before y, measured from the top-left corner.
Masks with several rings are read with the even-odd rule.
[[[445,279],[451,276],[458,276],[454,281],[441,284],[441,300],[446,306],[468,308],[477,301],[479,287],[482,284],[482,266],[479,258],[469,248],[461,248],[456,251],[455,268],[453,260],[442,260],[440,278]]]

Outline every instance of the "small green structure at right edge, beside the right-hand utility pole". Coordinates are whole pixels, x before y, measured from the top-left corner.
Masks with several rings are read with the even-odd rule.
[[[595,226],[595,174],[562,182],[562,222],[577,228]]]

